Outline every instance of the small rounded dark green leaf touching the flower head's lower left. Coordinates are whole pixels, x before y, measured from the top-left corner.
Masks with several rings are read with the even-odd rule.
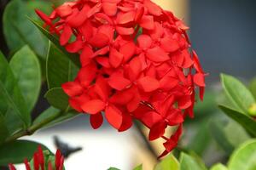
[[[68,96],[64,93],[62,88],[51,88],[44,95],[49,104],[61,111],[67,111],[68,109]]]

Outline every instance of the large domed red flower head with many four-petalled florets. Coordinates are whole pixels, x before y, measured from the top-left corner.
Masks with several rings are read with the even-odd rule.
[[[177,145],[184,117],[193,117],[195,87],[201,99],[205,87],[189,27],[150,0],[78,0],[37,13],[68,52],[80,54],[78,76],[62,88],[92,127],[102,114],[119,131],[137,119],[149,140],[166,139],[162,156]],[[177,127],[170,138],[168,126]]]

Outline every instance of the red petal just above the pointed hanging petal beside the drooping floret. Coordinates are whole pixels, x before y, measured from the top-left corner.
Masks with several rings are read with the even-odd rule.
[[[153,127],[155,123],[162,121],[162,119],[162,116],[154,111],[144,113],[141,117],[141,121],[149,128]]]

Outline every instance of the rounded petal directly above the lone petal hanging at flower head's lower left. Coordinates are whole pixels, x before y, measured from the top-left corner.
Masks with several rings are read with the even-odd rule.
[[[105,103],[100,99],[92,99],[81,106],[85,113],[95,115],[105,108]]]

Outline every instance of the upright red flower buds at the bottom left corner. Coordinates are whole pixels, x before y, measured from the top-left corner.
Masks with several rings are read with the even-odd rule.
[[[47,160],[44,160],[44,152],[41,148],[41,146],[38,146],[37,152],[34,153],[33,156],[33,168],[31,167],[30,163],[25,159],[24,164],[26,166],[26,170],[63,170],[63,164],[64,164],[64,156],[61,155],[61,151],[57,150],[55,154],[55,166],[52,165],[52,162],[49,160],[49,162],[45,162]],[[47,166],[46,166],[47,165]],[[9,170],[15,170],[15,166],[13,164],[9,164]]]

